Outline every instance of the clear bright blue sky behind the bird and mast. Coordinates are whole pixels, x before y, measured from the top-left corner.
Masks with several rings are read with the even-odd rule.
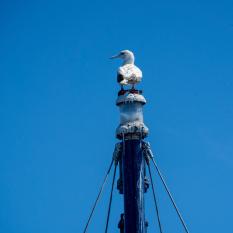
[[[121,49],[143,70],[147,140],[190,232],[233,232],[232,0],[1,1],[0,27],[0,233],[82,232],[117,142]],[[182,232],[157,189],[164,233]],[[121,203],[115,191],[109,233]],[[154,217],[150,190],[149,232]]]

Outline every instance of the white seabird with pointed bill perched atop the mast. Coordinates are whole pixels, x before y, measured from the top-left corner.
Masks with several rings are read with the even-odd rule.
[[[136,83],[142,80],[142,71],[134,65],[134,54],[129,50],[122,50],[118,55],[111,57],[111,59],[121,58],[123,64],[117,70],[117,82],[121,85],[123,90],[124,85],[132,84],[132,89]]]

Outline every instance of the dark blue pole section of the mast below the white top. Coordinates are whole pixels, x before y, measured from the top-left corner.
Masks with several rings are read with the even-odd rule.
[[[145,233],[144,169],[140,140],[124,140],[122,170],[125,233]]]

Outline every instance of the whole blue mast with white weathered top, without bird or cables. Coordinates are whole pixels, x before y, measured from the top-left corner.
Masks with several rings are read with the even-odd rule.
[[[144,193],[148,181],[142,149],[142,139],[148,135],[148,128],[143,122],[142,109],[145,103],[142,92],[135,89],[120,91],[116,101],[120,109],[120,125],[116,137],[122,145],[118,189],[124,196],[124,213],[118,227],[124,233],[145,233],[148,225],[144,209]]]

